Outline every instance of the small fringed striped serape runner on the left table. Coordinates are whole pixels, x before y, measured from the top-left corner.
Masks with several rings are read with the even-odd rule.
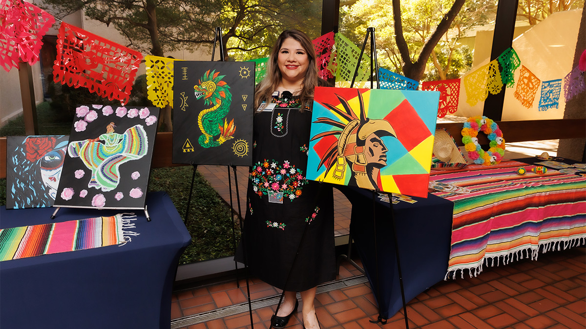
[[[124,245],[139,235],[134,214],[0,229],[0,262],[49,253]]]

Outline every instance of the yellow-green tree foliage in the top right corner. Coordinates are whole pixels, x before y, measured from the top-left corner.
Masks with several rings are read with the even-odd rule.
[[[584,0],[519,0],[517,16],[536,25],[554,12],[584,7]]]

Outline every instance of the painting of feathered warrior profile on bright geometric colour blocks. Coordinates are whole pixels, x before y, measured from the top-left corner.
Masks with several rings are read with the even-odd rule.
[[[440,92],[316,87],[307,179],[427,197]]]

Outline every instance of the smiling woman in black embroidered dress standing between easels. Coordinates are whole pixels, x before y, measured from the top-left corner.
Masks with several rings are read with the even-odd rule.
[[[335,279],[332,188],[305,179],[314,88],[326,84],[315,59],[305,33],[282,32],[255,91],[244,261],[253,275],[284,290],[274,328],[285,327],[297,310],[296,292],[304,327],[319,328],[316,286]]]

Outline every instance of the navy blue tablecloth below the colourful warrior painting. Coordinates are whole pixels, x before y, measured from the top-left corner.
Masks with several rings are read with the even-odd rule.
[[[372,191],[350,187],[340,191],[352,203],[350,234],[373,293],[379,301],[380,316],[392,317],[403,308],[403,301],[389,203],[376,197],[373,205]],[[454,208],[451,201],[432,194],[428,194],[427,198],[410,198],[417,203],[400,201],[393,205],[407,303],[444,279],[448,269]],[[374,234],[378,262],[375,257]],[[380,290],[377,286],[377,266]]]

